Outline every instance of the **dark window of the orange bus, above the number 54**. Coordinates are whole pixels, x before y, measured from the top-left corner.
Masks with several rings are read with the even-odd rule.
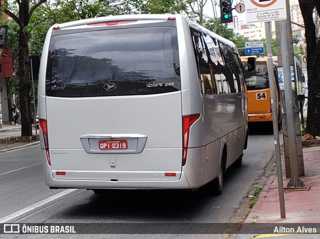
[[[256,62],[254,72],[248,72],[246,62],[243,63],[246,87],[248,90],[269,88],[269,77],[266,62]]]

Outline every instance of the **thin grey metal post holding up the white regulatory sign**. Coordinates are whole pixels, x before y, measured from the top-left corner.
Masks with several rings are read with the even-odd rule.
[[[270,96],[271,96],[276,174],[277,174],[277,178],[278,178],[280,217],[285,218],[285,205],[284,205],[281,154],[280,154],[280,140],[279,140],[279,130],[278,130],[278,115],[277,115],[277,110],[276,110],[276,100],[275,100],[276,96],[275,96],[275,85],[274,85],[272,49],[271,49],[271,30],[270,30],[271,24],[270,24],[270,21],[266,21],[264,24],[265,24],[266,53],[268,55],[268,75],[269,75]]]

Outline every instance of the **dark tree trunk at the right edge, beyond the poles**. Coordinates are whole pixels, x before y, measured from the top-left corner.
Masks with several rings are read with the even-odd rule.
[[[306,132],[320,135],[320,40],[316,34],[313,14],[320,12],[319,0],[298,0],[305,27],[307,72],[308,72],[308,112]],[[316,11],[314,11],[314,8]]]

